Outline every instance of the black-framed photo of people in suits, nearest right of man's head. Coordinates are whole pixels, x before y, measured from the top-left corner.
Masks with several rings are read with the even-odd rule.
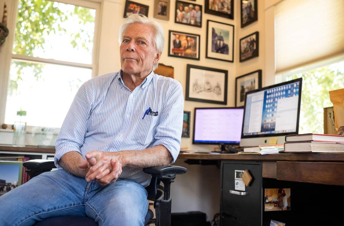
[[[168,55],[200,60],[200,35],[169,30]]]

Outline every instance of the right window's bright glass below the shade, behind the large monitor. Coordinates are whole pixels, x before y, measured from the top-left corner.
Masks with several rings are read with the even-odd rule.
[[[288,74],[279,76],[284,81],[302,78],[299,133],[323,133],[323,108],[333,106],[329,91],[344,88],[344,60]]]

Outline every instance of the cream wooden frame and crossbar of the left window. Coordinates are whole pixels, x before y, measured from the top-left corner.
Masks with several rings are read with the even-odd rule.
[[[92,63],[83,64],[83,63],[74,63],[70,61],[55,60],[55,59],[46,59],[33,56],[25,56],[19,54],[13,54],[13,41],[15,37],[15,24],[17,23],[18,15],[18,2],[19,0],[10,1],[8,5],[8,29],[10,31],[9,36],[7,37],[4,45],[2,45],[2,53],[0,52],[0,59],[3,58],[3,72],[0,74],[0,122],[5,121],[6,114],[6,104],[7,104],[7,95],[8,95],[8,82],[10,77],[10,67],[12,60],[25,60],[34,63],[48,63],[55,65],[64,65],[64,66],[73,66],[80,68],[88,68],[92,70],[91,78],[94,78],[98,75],[98,58],[99,58],[99,47],[100,47],[100,22],[102,16],[102,0],[88,1],[88,0],[50,0],[65,4],[73,4],[80,7],[86,7],[96,10],[95,17],[95,27],[94,27],[94,37],[93,37],[93,50],[92,50]],[[3,56],[1,56],[3,55]],[[1,65],[0,65],[1,66]],[[2,77],[2,79],[1,79]],[[90,78],[90,79],[91,79]],[[35,126],[28,126],[27,132],[31,132],[32,128]],[[58,132],[59,128],[54,128],[54,133]]]

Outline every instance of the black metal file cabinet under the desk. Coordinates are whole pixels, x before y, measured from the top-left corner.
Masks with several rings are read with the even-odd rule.
[[[248,170],[252,181],[244,185],[238,174]],[[237,178],[237,179],[236,179]],[[240,186],[241,185],[241,186]],[[262,163],[260,161],[221,161],[222,226],[261,226],[262,224]]]

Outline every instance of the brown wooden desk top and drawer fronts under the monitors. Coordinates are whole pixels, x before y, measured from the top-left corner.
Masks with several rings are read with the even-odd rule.
[[[285,181],[298,181],[344,186],[344,153],[299,154],[190,154],[179,159],[261,161],[262,176]]]

